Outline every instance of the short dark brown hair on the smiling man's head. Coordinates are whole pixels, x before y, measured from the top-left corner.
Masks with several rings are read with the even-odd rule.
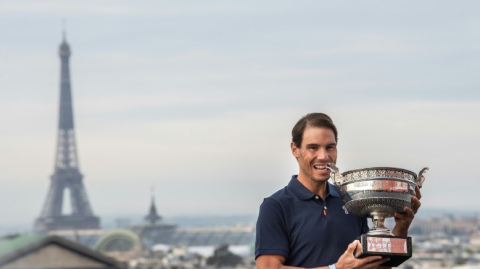
[[[328,115],[323,113],[310,113],[303,116],[292,129],[292,142],[295,143],[295,146],[301,147],[303,132],[307,126],[329,128],[335,135],[335,143],[339,140],[337,127],[335,127]]]

